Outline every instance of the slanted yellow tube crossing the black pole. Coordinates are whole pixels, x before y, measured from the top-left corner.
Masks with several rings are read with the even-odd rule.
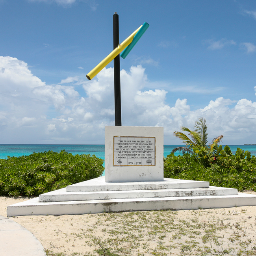
[[[142,26],[142,25],[141,25]],[[93,79],[96,74],[98,74],[98,72],[100,72],[100,70],[102,70],[104,67],[106,67],[106,65],[108,65],[108,63],[112,60],[115,59],[115,57],[117,57],[118,54],[120,54],[120,52],[122,52],[122,50],[124,50],[128,45],[130,45],[130,43],[132,43],[132,40],[134,39],[134,36],[136,35],[136,33],[139,31],[139,29],[141,28],[141,26],[139,28],[137,28],[137,30],[135,30],[129,37],[127,37],[121,44],[119,44],[117,46],[117,48],[115,48],[115,50],[113,50],[105,59],[103,59],[93,70],[91,70],[91,72],[89,72],[86,77],[91,80]]]

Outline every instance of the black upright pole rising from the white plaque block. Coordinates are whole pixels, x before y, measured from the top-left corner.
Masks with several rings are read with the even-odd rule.
[[[114,50],[119,45],[119,19],[113,15],[113,43]],[[114,90],[115,90],[115,125],[122,126],[121,117],[121,82],[120,82],[120,54],[114,59]]]

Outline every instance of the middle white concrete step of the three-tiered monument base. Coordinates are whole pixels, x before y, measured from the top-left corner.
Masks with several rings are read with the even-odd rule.
[[[237,189],[225,187],[205,187],[185,189],[67,192],[66,188],[63,188],[39,195],[39,202],[106,200],[122,198],[186,197],[206,195],[237,195]]]

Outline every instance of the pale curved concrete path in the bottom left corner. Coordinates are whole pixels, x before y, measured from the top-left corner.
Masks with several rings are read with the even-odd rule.
[[[46,256],[37,238],[15,221],[0,215],[1,256]]]

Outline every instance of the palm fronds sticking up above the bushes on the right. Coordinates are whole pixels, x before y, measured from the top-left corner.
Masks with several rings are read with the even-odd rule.
[[[211,141],[211,143],[209,145],[207,145],[208,133],[206,133],[207,132],[207,124],[206,124],[205,118],[200,117],[198,119],[198,121],[195,122],[194,128],[195,128],[194,130],[189,130],[189,128],[182,126],[181,127],[182,132],[175,131],[173,133],[173,135],[175,137],[178,137],[179,139],[182,140],[182,143],[184,143],[186,145],[186,147],[174,148],[171,153],[180,151],[180,152],[182,152],[182,154],[184,154],[184,153],[193,154],[192,148],[194,148],[194,147],[204,147],[204,148],[207,148],[210,152],[211,149],[213,148],[213,145],[220,142],[221,139],[223,138],[223,135],[220,135],[220,136],[214,138]],[[191,139],[183,132],[188,132],[189,135],[191,136]]]

